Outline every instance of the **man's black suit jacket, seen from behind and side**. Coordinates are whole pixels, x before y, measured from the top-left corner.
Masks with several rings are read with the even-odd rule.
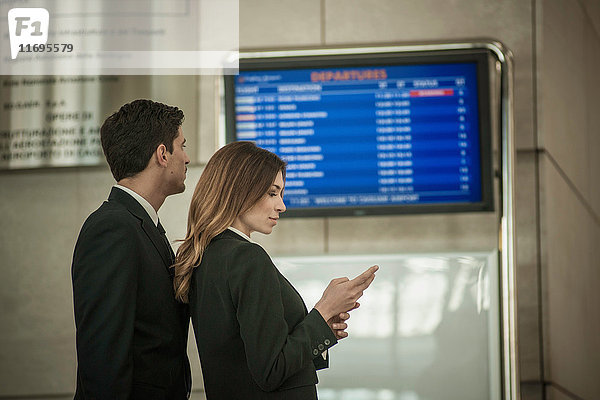
[[[113,188],[73,254],[75,399],[185,399],[189,308],[175,300],[173,250],[144,208]]]

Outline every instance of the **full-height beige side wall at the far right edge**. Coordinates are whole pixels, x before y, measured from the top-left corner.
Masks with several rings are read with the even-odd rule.
[[[600,3],[540,2],[538,135],[544,377],[600,398]]]

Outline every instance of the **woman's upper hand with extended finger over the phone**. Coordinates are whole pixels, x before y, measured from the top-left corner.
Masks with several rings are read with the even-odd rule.
[[[348,278],[333,279],[323,292],[321,300],[315,304],[315,309],[319,311],[325,321],[329,321],[336,316],[339,317],[340,313],[347,313],[356,308],[356,301],[371,285],[378,269],[379,267],[374,265],[352,280]]]

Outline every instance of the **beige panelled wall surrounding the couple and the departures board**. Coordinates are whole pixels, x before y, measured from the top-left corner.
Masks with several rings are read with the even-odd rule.
[[[553,399],[600,398],[599,8],[596,0],[240,0],[242,48],[485,37],[514,52],[519,350],[528,400],[543,398],[544,379]],[[191,151],[199,163],[188,190],[160,211],[171,239],[185,232],[190,188],[215,150],[214,94],[214,78],[200,77],[181,99],[167,99],[199,98],[196,109],[184,108],[199,113],[184,125],[197,135]],[[71,254],[111,184],[106,167],[0,172],[0,398],[72,393]],[[493,247],[495,235],[494,216],[474,214],[290,220],[262,240],[273,255],[297,255],[479,250]]]

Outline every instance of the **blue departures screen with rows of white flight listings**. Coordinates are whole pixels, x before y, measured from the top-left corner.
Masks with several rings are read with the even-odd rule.
[[[288,209],[482,200],[477,65],[240,71],[237,140],[287,161]]]

